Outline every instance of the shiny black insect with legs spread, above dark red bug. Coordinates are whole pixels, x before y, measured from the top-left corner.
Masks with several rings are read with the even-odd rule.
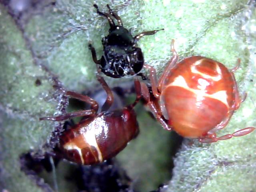
[[[96,4],[93,6],[96,8],[99,15],[108,19],[110,25],[108,36],[102,38],[104,55],[99,60],[97,60],[95,49],[89,44],[89,49],[92,51],[92,58],[94,62],[99,65],[99,69],[106,74],[106,76],[113,78],[135,74],[144,77],[139,73],[144,64],[144,58],[141,49],[136,47],[136,43],[143,36],[153,35],[159,30],[142,32],[133,37],[132,34],[123,27],[121,18],[110,9],[109,5],[107,5],[109,14],[100,12]],[[114,23],[112,17],[117,20],[117,25]]]

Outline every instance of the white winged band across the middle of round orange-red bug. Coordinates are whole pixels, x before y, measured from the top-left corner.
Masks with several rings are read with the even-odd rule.
[[[200,86],[203,88],[206,85],[207,85],[206,82],[202,82],[202,84]],[[192,89],[192,88],[188,87],[186,80],[181,75],[176,77],[172,83],[170,83],[170,84],[168,84],[168,86],[166,86],[166,88],[169,86],[178,86],[178,87],[182,87],[186,90],[193,92],[194,94],[196,94],[196,100],[198,102],[202,101],[204,99],[204,97],[209,97],[209,98],[214,98],[216,100],[221,101],[222,103],[224,103],[227,106],[227,108],[230,108],[228,105],[227,93],[225,90],[218,91],[214,94],[207,94],[205,89],[200,89],[200,90]]]

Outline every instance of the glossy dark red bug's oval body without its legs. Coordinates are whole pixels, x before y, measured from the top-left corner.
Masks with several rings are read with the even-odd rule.
[[[118,154],[138,130],[134,110],[102,112],[64,132],[60,148],[72,162],[95,164]]]

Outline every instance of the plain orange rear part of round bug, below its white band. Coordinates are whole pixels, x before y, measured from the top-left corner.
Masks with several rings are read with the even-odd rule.
[[[220,123],[226,116],[225,104],[210,97],[197,94],[180,87],[164,90],[164,100],[168,116],[174,130],[187,138],[198,138]]]

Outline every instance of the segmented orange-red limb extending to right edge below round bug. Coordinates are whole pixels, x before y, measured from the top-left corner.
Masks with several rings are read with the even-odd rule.
[[[227,140],[227,139],[230,139],[232,137],[240,137],[240,136],[244,136],[244,135],[247,135],[249,134],[250,132],[254,131],[255,128],[254,127],[246,127],[246,128],[243,128],[243,129],[240,129],[232,134],[226,134],[226,135],[223,135],[221,137],[213,137],[213,138],[208,138],[208,137],[205,137],[205,138],[198,138],[199,142],[201,143],[212,143],[212,142],[216,142],[218,140]]]

